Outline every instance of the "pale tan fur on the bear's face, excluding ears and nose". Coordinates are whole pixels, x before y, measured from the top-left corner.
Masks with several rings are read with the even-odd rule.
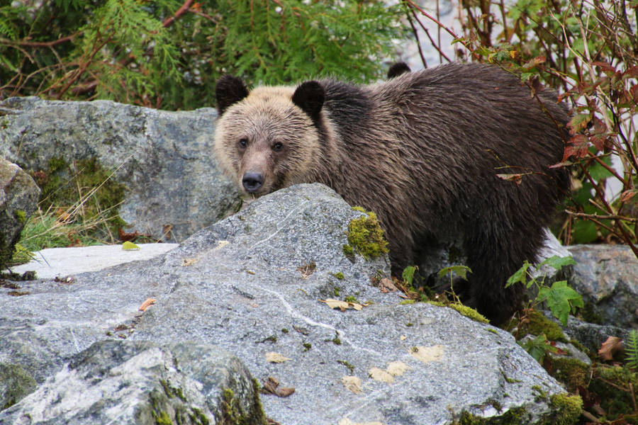
[[[247,171],[264,175],[263,195],[296,183],[314,181],[319,136],[312,120],[291,98],[291,86],[262,86],[218,118],[215,149],[225,174],[242,186]],[[242,152],[240,140],[248,140]],[[275,143],[283,145],[280,152]]]

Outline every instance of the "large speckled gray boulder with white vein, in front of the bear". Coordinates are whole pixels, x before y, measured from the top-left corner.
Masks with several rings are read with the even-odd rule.
[[[513,336],[449,308],[402,304],[374,285],[386,257],[345,256],[347,225],[360,216],[325,186],[293,186],[155,259],[25,283],[22,297],[0,292],[0,361],[41,384],[103,339],[198,341],[234,353],[259,382],[293,388],[262,395],[281,424],[449,424],[461,412],[513,409],[524,411],[521,424],[547,419],[534,389],[564,389]],[[157,302],[138,312],[147,297]],[[340,311],[320,301],[345,297],[371,304]]]

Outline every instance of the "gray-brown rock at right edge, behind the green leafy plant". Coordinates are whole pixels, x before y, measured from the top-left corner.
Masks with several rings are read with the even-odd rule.
[[[638,328],[638,259],[625,245],[574,245],[571,285],[600,324]]]

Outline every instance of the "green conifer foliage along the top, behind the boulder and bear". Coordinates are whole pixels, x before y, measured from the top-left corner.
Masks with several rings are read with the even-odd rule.
[[[0,6],[0,99],[213,106],[231,73],[252,84],[381,77],[405,36],[379,0],[13,0]]]

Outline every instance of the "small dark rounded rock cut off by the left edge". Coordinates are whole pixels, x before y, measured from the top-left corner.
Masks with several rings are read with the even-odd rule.
[[[38,206],[38,196],[40,188],[35,181],[0,157],[0,270],[11,260],[20,232]]]

